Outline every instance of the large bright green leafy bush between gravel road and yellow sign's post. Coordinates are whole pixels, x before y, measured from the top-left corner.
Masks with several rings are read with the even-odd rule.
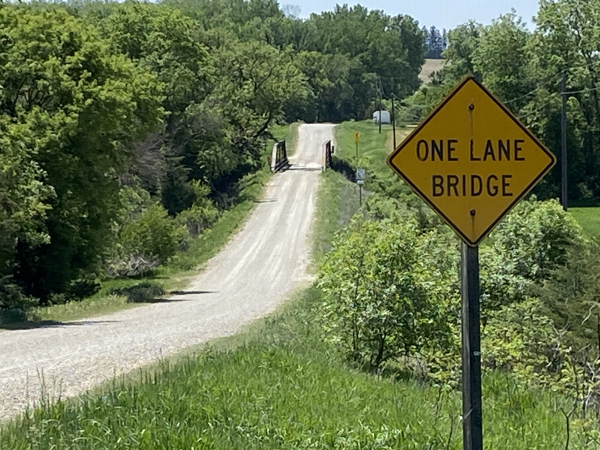
[[[338,233],[320,270],[326,340],[377,370],[390,358],[435,347],[449,335],[446,267],[427,250],[430,235],[415,221],[391,223],[352,218]]]

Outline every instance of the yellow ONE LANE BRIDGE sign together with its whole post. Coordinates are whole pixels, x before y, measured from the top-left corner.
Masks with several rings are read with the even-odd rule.
[[[392,170],[463,241],[464,450],[482,449],[478,244],[555,163],[554,155],[472,76],[388,158]]]

